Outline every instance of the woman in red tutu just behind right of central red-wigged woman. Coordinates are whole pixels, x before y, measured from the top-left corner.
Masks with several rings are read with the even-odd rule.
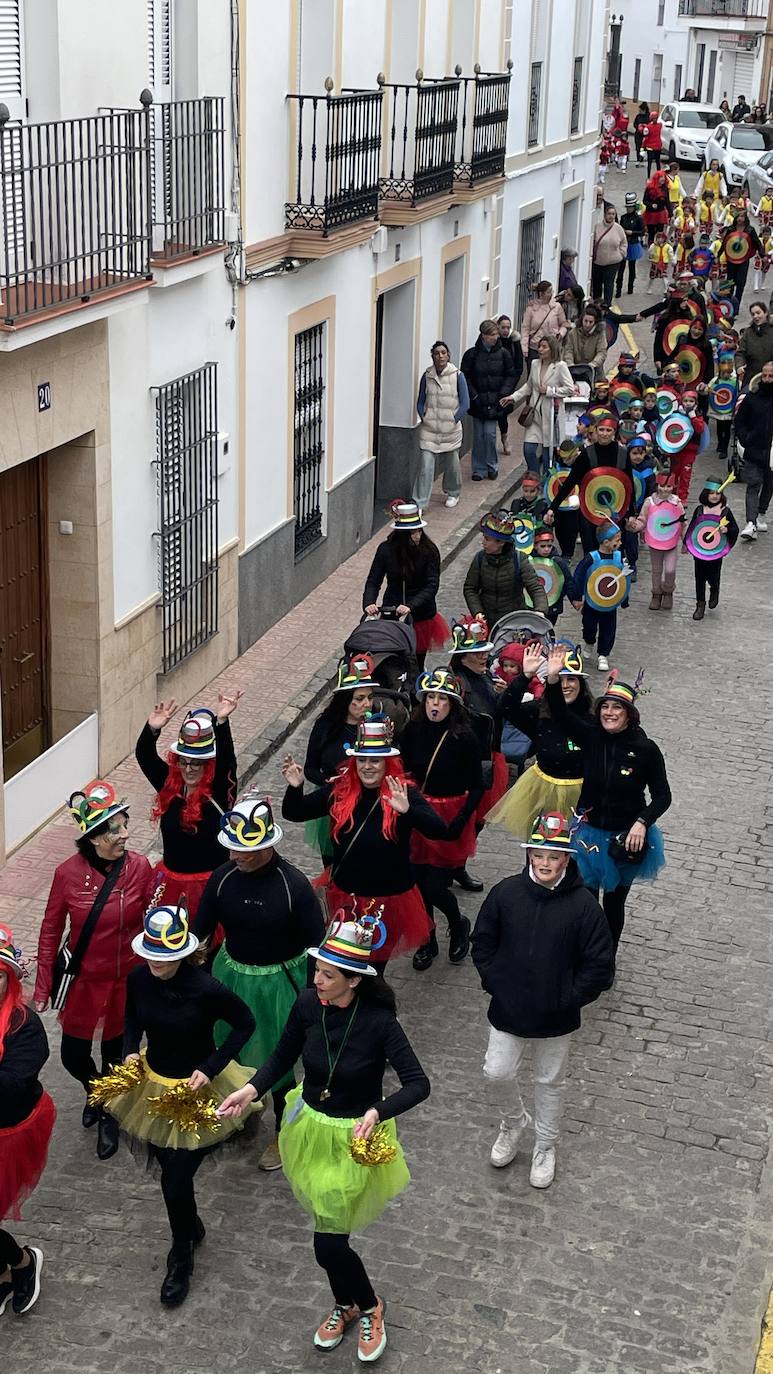
[[[461,963],[470,949],[470,922],[459,910],[452,882],[454,871],[475,853],[475,811],[483,796],[483,774],[459,677],[448,668],[435,668],[419,677],[416,695],[419,705],[400,742],[405,767],[443,820],[467,818],[456,840],[430,840],[415,831],[411,842],[416,882],[432,921],[428,943],[413,955],[413,967],[423,973],[438,956],[434,907],[448,921],[450,962]]]

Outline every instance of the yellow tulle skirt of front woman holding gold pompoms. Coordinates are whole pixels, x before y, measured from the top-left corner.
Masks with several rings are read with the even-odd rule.
[[[224,1140],[228,1140],[236,1131],[243,1131],[250,1114],[262,1112],[264,1103],[258,1101],[251,1103],[242,1116],[220,1120],[213,1131],[181,1131],[173,1121],[151,1114],[148,1103],[154,1098],[163,1096],[177,1083],[187,1083],[187,1079],[163,1079],[161,1073],[154,1073],[148,1068],[144,1050],[140,1058],[146,1070],[143,1081],[136,1088],[121,1092],[117,1098],[111,1098],[106,1103],[106,1110],[110,1112],[110,1116],[115,1117],[121,1129],[126,1135],[133,1136],[135,1140],[144,1140],[147,1145],[155,1145],[161,1150],[210,1149],[213,1145],[221,1145]],[[225,1069],[211,1080],[210,1088],[218,1101],[222,1102],[229,1092],[243,1088],[254,1073],[254,1069],[244,1068],[242,1063],[231,1059],[225,1065]]]

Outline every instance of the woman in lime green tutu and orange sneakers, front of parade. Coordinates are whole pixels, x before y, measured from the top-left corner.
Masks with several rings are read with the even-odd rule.
[[[411,1175],[394,1117],[423,1102],[430,1081],[397,1020],[391,988],[369,962],[386,938],[383,922],[378,914],[353,915],[334,921],[321,945],[309,949],[317,962],[313,989],[298,998],[268,1062],[218,1113],[239,1116],[303,1059],[303,1083],[288,1094],[279,1149],[290,1186],[313,1217],[314,1256],[332,1289],[334,1307],[314,1345],[334,1349],[358,1322],[357,1353],[372,1363],[386,1347],[384,1303],[349,1237],[406,1187]],[[400,1088],[383,1098],[387,1063]],[[372,1151],[371,1167],[354,1157],[362,1150]]]

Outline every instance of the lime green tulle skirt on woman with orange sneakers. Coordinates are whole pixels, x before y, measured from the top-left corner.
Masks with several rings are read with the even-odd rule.
[[[397,1147],[391,1164],[357,1164],[349,1150],[357,1118],[324,1116],[303,1102],[302,1088],[299,1083],[287,1094],[279,1132],[287,1182],[303,1210],[313,1217],[314,1231],[336,1235],[361,1231],[411,1182],[395,1124],[384,1121],[390,1143]]]

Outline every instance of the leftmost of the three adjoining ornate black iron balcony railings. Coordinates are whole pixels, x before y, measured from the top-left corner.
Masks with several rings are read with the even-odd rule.
[[[295,129],[288,229],[321,229],[376,220],[382,153],[382,91],[290,95]]]

